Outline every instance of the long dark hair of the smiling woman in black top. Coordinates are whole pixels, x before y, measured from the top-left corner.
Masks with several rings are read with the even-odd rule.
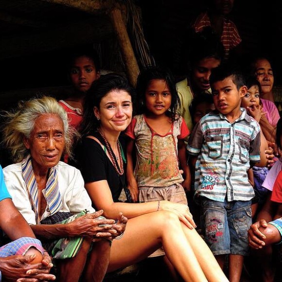
[[[83,120],[79,128],[82,137],[91,134],[97,129],[100,120],[94,115],[94,107],[100,108],[100,102],[112,90],[124,90],[134,103],[135,89],[128,83],[127,79],[118,73],[107,73],[95,80],[87,92],[84,103]]]

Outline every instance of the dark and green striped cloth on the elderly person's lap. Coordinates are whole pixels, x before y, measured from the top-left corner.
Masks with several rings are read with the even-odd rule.
[[[86,213],[86,210],[75,215],[72,215],[71,212],[57,212],[42,220],[40,224],[66,224],[80,216],[85,215]],[[83,240],[83,237],[68,237],[61,238],[59,240],[41,241],[43,247],[48,251],[48,253],[52,254],[54,259],[62,260],[75,257],[81,247]]]

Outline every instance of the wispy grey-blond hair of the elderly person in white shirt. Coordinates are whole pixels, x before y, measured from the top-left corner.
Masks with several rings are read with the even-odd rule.
[[[35,120],[44,114],[57,115],[64,124],[65,149],[64,153],[71,157],[73,137],[78,137],[76,130],[69,127],[67,112],[56,99],[48,96],[32,98],[19,102],[18,108],[4,114],[3,142],[11,150],[15,162],[22,161],[29,150],[25,147],[23,136],[29,138],[35,126]]]

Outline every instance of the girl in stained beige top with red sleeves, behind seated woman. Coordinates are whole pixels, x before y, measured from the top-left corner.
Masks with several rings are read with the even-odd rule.
[[[184,189],[190,190],[191,176],[184,138],[190,132],[182,117],[176,114],[179,98],[172,74],[148,67],[139,74],[136,89],[142,114],[133,117],[125,132],[130,137],[126,177],[132,199],[135,202],[169,200],[187,205]],[[136,152],[136,165],[133,152]]]

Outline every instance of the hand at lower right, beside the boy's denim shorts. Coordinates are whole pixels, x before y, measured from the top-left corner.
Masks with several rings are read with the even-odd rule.
[[[260,249],[265,246],[264,239],[266,239],[264,233],[260,231],[261,228],[266,228],[267,222],[262,219],[253,223],[248,229],[248,241],[249,246],[255,249]]]

